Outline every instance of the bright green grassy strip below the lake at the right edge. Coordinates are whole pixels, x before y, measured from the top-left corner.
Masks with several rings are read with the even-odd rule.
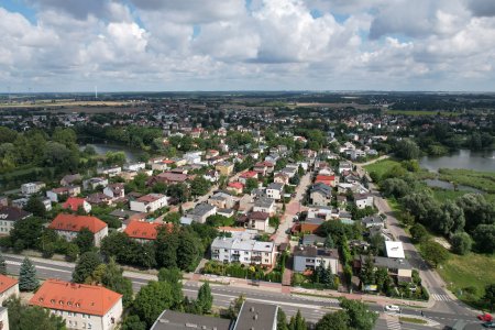
[[[458,185],[495,194],[495,172],[476,172],[471,169],[440,168],[439,178]]]

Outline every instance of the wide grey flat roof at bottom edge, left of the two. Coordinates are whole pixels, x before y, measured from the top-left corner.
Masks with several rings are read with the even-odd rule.
[[[175,330],[175,329],[205,329],[205,330],[229,330],[231,321],[228,319],[199,316],[179,311],[164,310],[151,330]]]

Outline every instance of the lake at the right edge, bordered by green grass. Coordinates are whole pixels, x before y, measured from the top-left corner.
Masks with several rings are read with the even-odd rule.
[[[440,157],[425,156],[419,161],[419,165],[432,172],[438,172],[439,168],[495,170],[495,151],[460,150]]]

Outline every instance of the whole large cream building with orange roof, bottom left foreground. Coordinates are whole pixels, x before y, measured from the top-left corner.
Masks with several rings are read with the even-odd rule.
[[[58,279],[45,280],[30,305],[61,316],[68,329],[116,329],[123,311],[121,294],[99,285]]]

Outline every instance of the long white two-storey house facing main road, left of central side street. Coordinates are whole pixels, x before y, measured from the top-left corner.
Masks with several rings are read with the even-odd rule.
[[[242,237],[216,238],[211,243],[211,260],[271,267],[276,260],[275,243],[258,242]]]

